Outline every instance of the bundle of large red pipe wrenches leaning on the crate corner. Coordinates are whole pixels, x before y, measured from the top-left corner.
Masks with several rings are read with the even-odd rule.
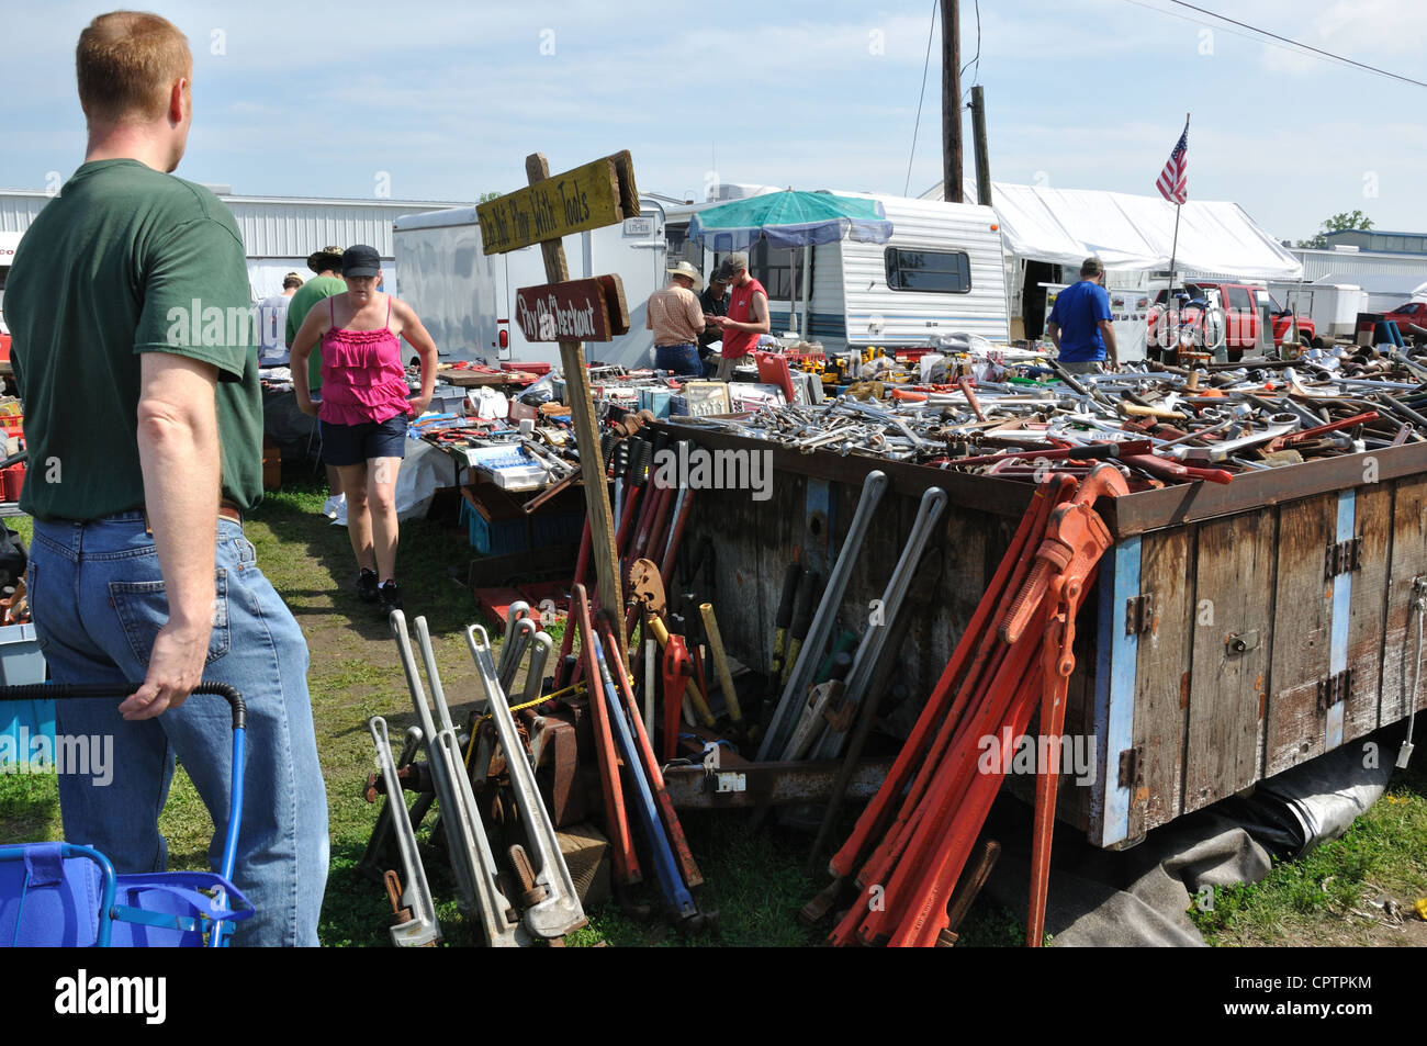
[[[1126,491],[1107,464],[1079,481],[1053,474],[1036,488],[892,771],[833,855],[833,883],[809,905],[832,910],[849,885],[856,888],[829,936],[833,945],[955,942],[949,930],[965,910],[958,883],[1009,766],[1012,738],[1025,735],[1037,708],[1049,748],[1036,776],[1026,943],[1040,945],[1075,616],[1112,544],[1093,505]]]

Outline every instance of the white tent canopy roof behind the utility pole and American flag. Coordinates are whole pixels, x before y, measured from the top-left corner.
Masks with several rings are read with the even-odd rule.
[[[939,198],[940,187],[928,193],[933,194]],[[975,191],[968,198],[975,200]],[[1169,268],[1174,204],[1163,197],[993,181],[992,205],[1006,250],[1019,258],[1079,267],[1095,254],[1113,270]],[[1174,268],[1256,280],[1297,280],[1303,274],[1297,258],[1239,204],[1220,200],[1183,205]]]

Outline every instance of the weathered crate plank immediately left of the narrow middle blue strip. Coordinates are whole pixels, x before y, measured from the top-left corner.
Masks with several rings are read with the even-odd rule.
[[[1253,625],[1273,642],[1264,776],[1324,751],[1319,682],[1330,674],[1334,582],[1323,577],[1323,567],[1337,507],[1336,494],[1279,507],[1277,619]]]

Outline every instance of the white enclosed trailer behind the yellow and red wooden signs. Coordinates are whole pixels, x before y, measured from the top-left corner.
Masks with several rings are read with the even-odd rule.
[[[654,338],[644,328],[649,295],[665,275],[665,215],[658,200],[639,198],[639,217],[565,237],[571,280],[615,273],[629,303],[629,332],[585,345],[585,358],[645,365]],[[512,323],[515,291],[549,283],[539,247],[482,254],[474,207],[405,214],[392,224],[397,294],[431,332],[442,357],[559,364],[559,345],[529,342]]]

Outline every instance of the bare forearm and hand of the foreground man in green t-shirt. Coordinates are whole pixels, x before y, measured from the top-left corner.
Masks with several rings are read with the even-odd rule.
[[[118,706],[126,719],[177,708],[203,681],[220,497],[217,381],[217,368],[198,360],[170,352],[140,358],[138,464],[168,621],[154,638],[143,685]]]

